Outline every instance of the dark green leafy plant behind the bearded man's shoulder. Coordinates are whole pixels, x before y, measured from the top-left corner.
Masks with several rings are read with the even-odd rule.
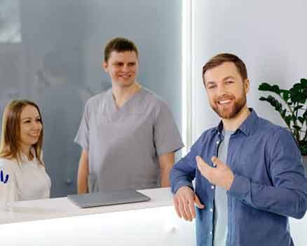
[[[299,145],[307,174],[307,79],[301,78],[290,89],[280,89],[278,85],[266,82],[261,83],[258,89],[278,96],[278,99],[271,95],[261,96],[260,100],[270,103],[285,121]]]

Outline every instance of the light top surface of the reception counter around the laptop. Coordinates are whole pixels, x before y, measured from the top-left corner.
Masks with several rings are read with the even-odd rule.
[[[55,219],[80,215],[93,215],[106,212],[138,210],[172,205],[172,194],[169,188],[143,189],[142,194],[149,196],[151,201],[108,205],[95,208],[79,208],[67,197],[50,198],[33,201],[15,202],[11,211],[0,210],[0,224],[30,222],[41,219]]]

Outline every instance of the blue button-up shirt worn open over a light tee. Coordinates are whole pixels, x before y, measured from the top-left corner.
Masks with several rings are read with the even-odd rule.
[[[170,172],[172,192],[193,189],[205,209],[196,208],[198,246],[212,246],[214,236],[214,185],[204,178],[196,156],[213,166],[223,140],[223,124],[205,131]],[[249,117],[231,135],[226,164],[234,174],[228,198],[227,246],[293,245],[287,217],[302,218],[307,206],[307,179],[301,154],[292,134],[281,126]]]

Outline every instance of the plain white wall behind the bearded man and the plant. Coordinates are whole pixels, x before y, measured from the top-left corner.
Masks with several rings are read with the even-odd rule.
[[[195,0],[192,12],[192,142],[218,118],[202,82],[202,67],[219,52],[233,52],[245,64],[251,89],[248,106],[282,124],[278,113],[259,101],[258,85],[289,88],[307,77],[307,1]]]

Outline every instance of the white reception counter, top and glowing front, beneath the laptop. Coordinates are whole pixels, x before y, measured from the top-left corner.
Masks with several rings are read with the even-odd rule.
[[[0,243],[6,246],[196,245],[195,224],[177,217],[170,189],[141,191],[151,201],[78,208],[67,198],[15,203],[0,211]],[[296,246],[307,243],[307,217],[290,219]]]

